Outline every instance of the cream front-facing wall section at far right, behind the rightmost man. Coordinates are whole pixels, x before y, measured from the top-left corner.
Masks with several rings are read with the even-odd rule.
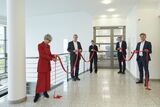
[[[152,61],[150,63],[150,74],[152,79],[160,79],[160,17],[158,9],[148,8],[139,10],[138,33],[147,33],[147,40],[152,43]]]

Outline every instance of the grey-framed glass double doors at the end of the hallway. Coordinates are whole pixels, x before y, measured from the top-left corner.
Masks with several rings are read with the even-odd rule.
[[[122,36],[125,40],[125,26],[96,26],[93,28],[94,40],[99,48],[98,67],[116,69],[118,59],[116,43],[117,37]]]

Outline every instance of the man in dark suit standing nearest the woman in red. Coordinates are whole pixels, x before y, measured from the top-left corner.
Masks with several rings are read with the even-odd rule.
[[[74,81],[78,80],[80,81],[79,75],[79,62],[80,62],[80,55],[79,52],[82,52],[82,46],[81,43],[77,41],[78,35],[74,34],[73,41],[68,43],[68,52],[70,52],[70,64],[71,64],[71,77]],[[72,68],[74,67],[74,63],[76,61],[76,55],[78,54],[78,60],[77,65],[75,67],[75,72],[72,71]]]

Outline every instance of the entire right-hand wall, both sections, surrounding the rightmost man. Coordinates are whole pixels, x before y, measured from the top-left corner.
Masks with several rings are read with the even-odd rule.
[[[158,57],[160,55],[160,44],[159,44],[159,36],[160,36],[160,15],[156,6],[141,6],[135,7],[131,13],[127,17],[127,43],[128,49],[134,50],[137,42],[140,41],[139,34],[145,32],[147,34],[147,40],[152,43],[152,51],[151,55],[152,61],[149,65],[150,77],[151,79],[160,79],[160,60]],[[127,63],[127,69],[131,72],[134,77],[138,76],[138,68],[136,59]]]

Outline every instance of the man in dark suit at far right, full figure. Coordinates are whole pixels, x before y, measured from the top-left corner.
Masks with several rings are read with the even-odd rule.
[[[137,51],[143,51],[137,53],[137,63],[139,67],[139,76],[140,79],[137,84],[143,83],[143,69],[145,70],[145,78],[149,80],[149,70],[148,70],[148,64],[151,60],[150,54],[152,53],[152,44],[151,42],[146,41],[146,34],[141,33],[140,34],[141,42],[137,44],[136,50]],[[148,53],[148,61],[146,59]]]

